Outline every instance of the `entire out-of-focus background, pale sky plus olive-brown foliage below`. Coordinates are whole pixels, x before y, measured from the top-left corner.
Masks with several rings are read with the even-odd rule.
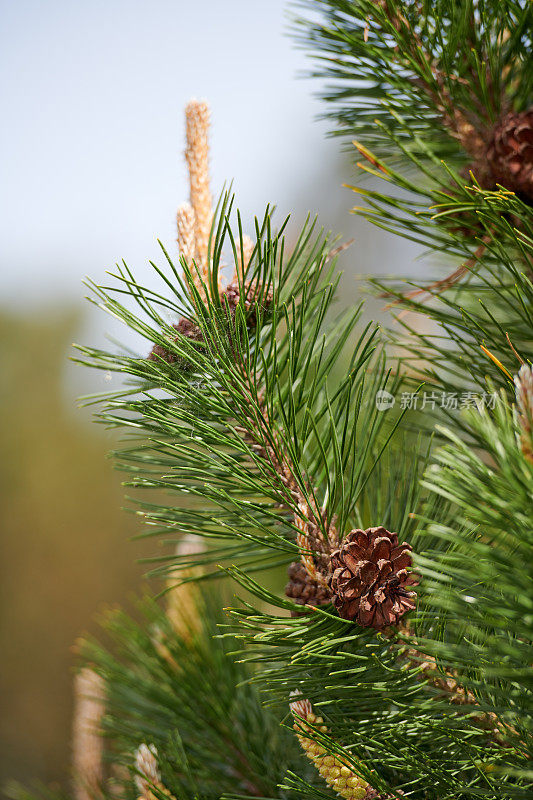
[[[317,121],[286,0],[0,0],[0,786],[65,779],[72,644],[142,584],[114,441],[76,397],[109,389],[73,341],[133,342],[83,301],[124,258],[152,282],[187,198],[183,107],[212,107],[212,187],[251,232],[275,203],[354,238],[343,303],[368,273],[415,274],[416,248],[349,214],[355,157]],[[292,231],[292,233],[291,233]],[[370,309],[379,312],[372,301]]]

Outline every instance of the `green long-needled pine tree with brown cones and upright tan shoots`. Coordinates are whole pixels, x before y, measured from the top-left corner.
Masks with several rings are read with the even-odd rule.
[[[374,281],[388,331],[334,314],[335,240],[307,222],[287,252],[270,209],[251,238],[232,197],[212,211],[208,110],[187,108],[179,263],[91,284],[146,350],[80,348],[125,378],[98,418],[127,436],[167,599],[80,647],[107,765],[78,796],[527,798],[531,6],[299,14],[336,132],[384,182],[356,213],[451,271]]]

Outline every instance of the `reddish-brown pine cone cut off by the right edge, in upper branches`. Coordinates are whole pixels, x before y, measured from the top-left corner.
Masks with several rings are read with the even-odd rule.
[[[533,107],[500,120],[487,150],[487,163],[496,183],[533,201]]]

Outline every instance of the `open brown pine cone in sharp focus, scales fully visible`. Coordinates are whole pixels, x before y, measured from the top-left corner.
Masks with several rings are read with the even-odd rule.
[[[350,531],[331,554],[329,585],[339,616],[376,630],[396,625],[415,606],[410,550],[383,527]]]

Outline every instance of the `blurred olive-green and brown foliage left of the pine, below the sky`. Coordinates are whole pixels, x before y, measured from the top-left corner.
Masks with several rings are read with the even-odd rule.
[[[113,437],[66,399],[80,323],[75,310],[0,315],[0,786],[65,778],[73,642],[142,574]]]

